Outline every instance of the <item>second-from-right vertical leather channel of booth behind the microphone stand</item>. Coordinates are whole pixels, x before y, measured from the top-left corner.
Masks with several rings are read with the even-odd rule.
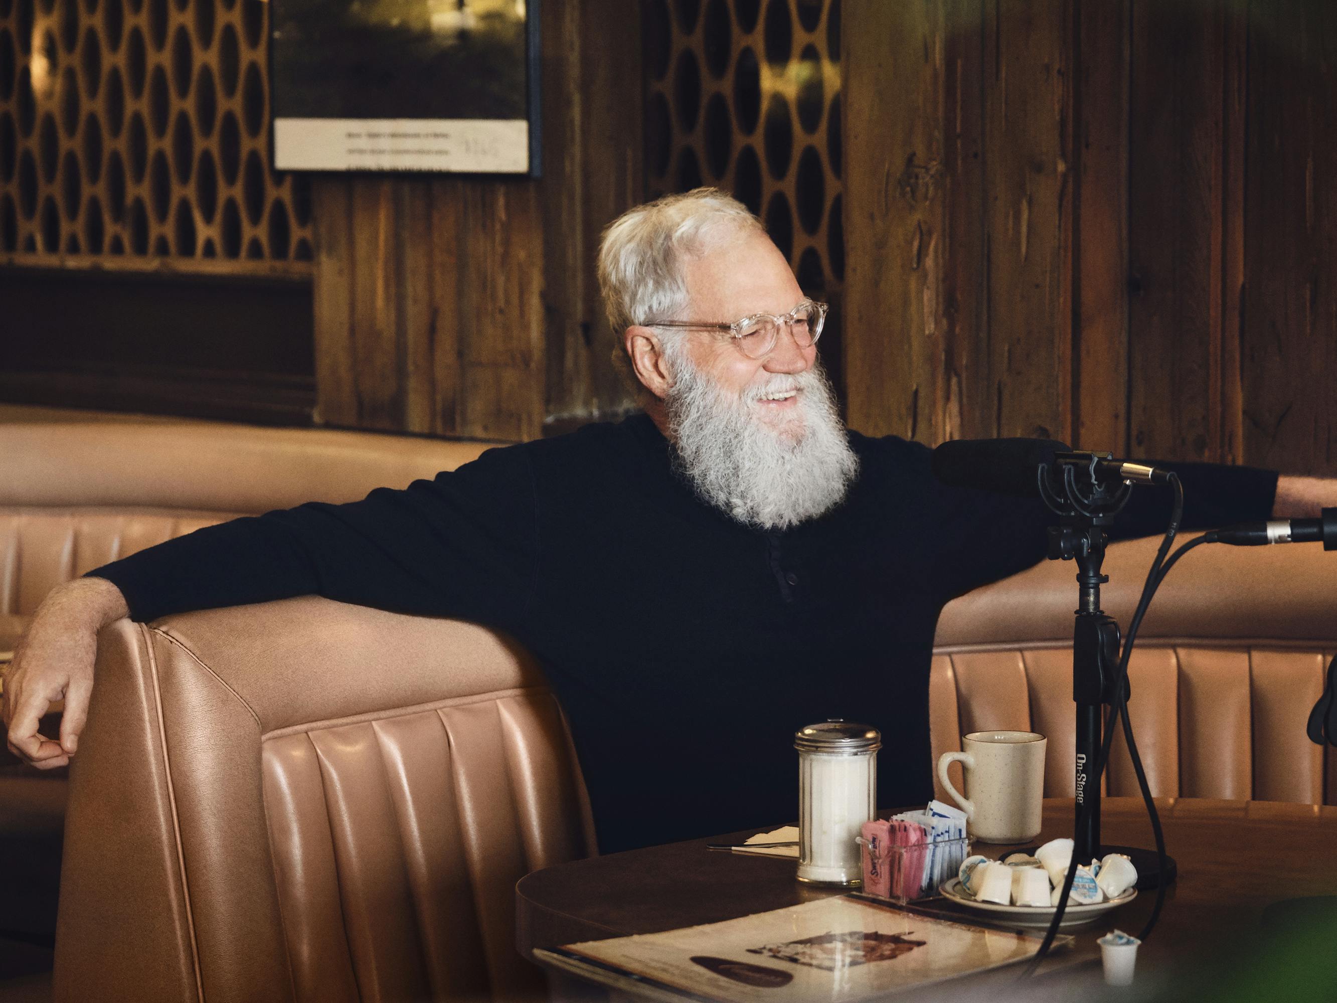
[[[1249,653],[1198,647],[1179,657],[1179,793],[1253,794]]]

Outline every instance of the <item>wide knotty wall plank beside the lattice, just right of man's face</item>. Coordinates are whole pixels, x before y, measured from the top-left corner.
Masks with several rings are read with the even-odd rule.
[[[846,4],[845,386],[868,435],[941,433],[943,21],[931,0]]]

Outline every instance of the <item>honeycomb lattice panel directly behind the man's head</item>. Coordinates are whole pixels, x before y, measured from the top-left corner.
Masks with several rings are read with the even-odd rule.
[[[840,0],[648,0],[647,191],[742,201],[813,296],[838,294]]]

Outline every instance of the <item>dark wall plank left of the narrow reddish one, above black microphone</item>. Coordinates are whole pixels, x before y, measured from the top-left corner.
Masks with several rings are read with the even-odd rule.
[[[988,361],[999,436],[1071,436],[1071,0],[988,8]]]

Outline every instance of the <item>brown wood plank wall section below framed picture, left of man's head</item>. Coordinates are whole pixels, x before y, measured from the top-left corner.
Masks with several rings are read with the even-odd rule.
[[[630,405],[594,266],[640,198],[639,17],[540,16],[543,178],[316,177],[320,421],[525,440]]]

